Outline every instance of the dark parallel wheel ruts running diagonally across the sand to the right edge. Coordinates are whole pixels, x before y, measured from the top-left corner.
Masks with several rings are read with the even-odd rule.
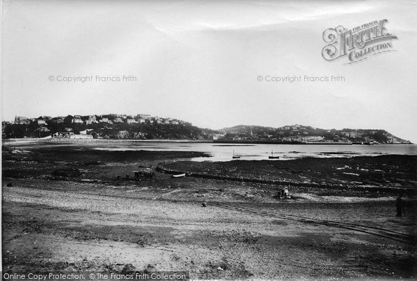
[[[226,210],[235,210],[238,212],[258,214],[259,216],[267,216],[267,217],[275,218],[275,219],[286,219],[290,221],[299,221],[302,223],[327,225],[327,226],[334,227],[334,228],[344,228],[347,230],[354,230],[357,232],[363,232],[363,233],[370,234],[370,235],[376,235],[379,237],[384,237],[387,239],[392,239],[392,240],[400,241],[400,242],[407,243],[407,244],[414,244],[416,241],[416,237],[414,237],[413,235],[408,235],[405,233],[395,232],[393,230],[387,230],[384,228],[377,228],[377,227],[368,226],[368,225],[360,225],[356,223],[343,223],[341,221],[329,221],[325,219],[313,219],[313,218],[309,218],[306,216],[294,216],[291,214],[283,214],[283,213],[271,214],[265,211],[253,210],[253,209],[243,208],[243,207],[236,207],[236,206],[226,205],[224,203],[212,202],[211,205],[214,205],[216,207],[220,207]]]

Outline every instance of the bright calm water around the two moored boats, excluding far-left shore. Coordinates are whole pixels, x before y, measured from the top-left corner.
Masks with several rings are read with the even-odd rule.
[[[303,145],[303,144],[202,144],[181,142],[129,142],[122,144],[94,144],[96,149],[108,151],[200,151],[211,157],[197,157],[193,161],[268,160],[271,152],[280,160],[301,157],[354,157],[384,154],[417,155],[416,144],[366,145]],[[236,159],[235,159],[236,160]]]

